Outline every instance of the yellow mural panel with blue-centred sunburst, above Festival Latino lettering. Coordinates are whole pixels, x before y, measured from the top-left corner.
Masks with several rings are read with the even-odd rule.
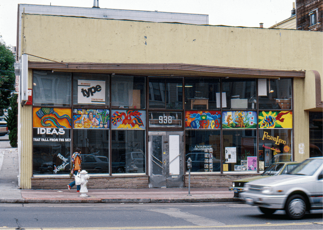
[[[274,129],[274,128],[293,128],[293,113],[292,111],[262,111],[258,117],[259,128]]]

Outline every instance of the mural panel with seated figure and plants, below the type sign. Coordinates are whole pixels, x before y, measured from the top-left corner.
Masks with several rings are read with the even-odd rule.
[[[74,109],[75,129],[109,129],[109,109]]]

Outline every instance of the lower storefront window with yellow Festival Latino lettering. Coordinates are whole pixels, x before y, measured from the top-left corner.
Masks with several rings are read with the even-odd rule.
[[[259,170],[272,163],[292,161],[291,129],[259,129]]]

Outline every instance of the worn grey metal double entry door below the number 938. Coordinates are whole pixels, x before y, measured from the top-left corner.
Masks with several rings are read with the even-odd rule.
[[[148,132],[149,188],[183,187],[183,132]]]

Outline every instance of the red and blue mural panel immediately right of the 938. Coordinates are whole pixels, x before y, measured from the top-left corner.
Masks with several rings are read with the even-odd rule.
[[[186,111],[186,129],[220,129],[221,111]]]

